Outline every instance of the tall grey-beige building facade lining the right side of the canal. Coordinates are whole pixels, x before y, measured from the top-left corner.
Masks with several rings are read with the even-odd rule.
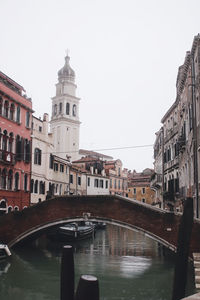
[[[162,119],[163,166],[161,201],[165,209],[182,211],[186,197],[194,199],[199,218],[200,187],[200,35],[179,67],[176,99]],[[155,148],[154,148],[155,150]],[[159,155],[155,156],[158,164]],[[157,173],[157,172],[156,172]],[[163,196],[163,197],[162,197]]]

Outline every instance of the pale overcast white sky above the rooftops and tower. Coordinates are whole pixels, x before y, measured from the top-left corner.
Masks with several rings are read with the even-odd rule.
[[[155,133],[200,32],[200,1],[0,0],[0,11],[0,70],[25,88],[34,115],[51,115],[69,49],[80,148],[153,168]]]

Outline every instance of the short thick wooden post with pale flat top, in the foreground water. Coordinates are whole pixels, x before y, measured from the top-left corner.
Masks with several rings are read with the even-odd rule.
[[[82,275],[79,279],[75,300],[99,300],[99,283],[95,276]]]

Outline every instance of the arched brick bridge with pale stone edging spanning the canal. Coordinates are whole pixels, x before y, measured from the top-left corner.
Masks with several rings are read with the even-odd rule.
[[[83,219],[102,220],[145,232],[175,250],[180,215],[121,196],[60,196],[0,217],[0,242],[10,247],[49,227]],[[195,220],[190,254],[200,252],[200,221]]]

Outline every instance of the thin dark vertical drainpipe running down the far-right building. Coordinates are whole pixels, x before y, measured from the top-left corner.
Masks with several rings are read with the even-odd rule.
[[[194,156],[194,185],[195,185],[195,208],[196,218],[199,218],[199,183],[198,183],[198,156],[197,156],[197,122],[196,122],[196,95],[195,95],[195,69],[194,58],[191,57],[192,72],[192,115],[193,115],[193,156]]]

